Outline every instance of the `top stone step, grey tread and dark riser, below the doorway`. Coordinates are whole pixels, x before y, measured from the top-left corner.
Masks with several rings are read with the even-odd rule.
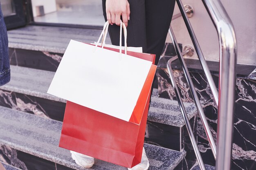
[[[97,41],[99,28],[25,26],[7,31],[11,65],[56,71],[70,39]],[[107,36],[106,43],[110,44]]]

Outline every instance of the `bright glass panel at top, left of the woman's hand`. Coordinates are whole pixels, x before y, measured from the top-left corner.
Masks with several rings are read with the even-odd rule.
[[[31,0],[34,22],[103,26],[102,0]]]

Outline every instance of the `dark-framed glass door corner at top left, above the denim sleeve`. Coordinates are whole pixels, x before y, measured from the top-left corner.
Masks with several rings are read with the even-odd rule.
[[[0,0],[7,29],[26,25],[24,0]]]

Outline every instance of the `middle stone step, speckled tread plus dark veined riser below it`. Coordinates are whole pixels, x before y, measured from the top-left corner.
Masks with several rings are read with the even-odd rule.
[[[11,81],[0,87],[0,106],[63,121],[66,101],[47,94],[54,72],[11,65]],[[192,103],[184,103],[189,118],[196,114]],[[192,120],[193,121],[193,120]],[[153,90],[145,142],[181,151],[184,120],[177,101],[158,98]]]

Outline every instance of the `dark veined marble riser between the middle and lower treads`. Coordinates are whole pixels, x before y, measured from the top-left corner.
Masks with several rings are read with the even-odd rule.
[[[64,118],[65,105],[64,102],[0,90],[0,106],[61,122]],[[180,131],[180,127],[148,121],[145,142],[180,151]]]

